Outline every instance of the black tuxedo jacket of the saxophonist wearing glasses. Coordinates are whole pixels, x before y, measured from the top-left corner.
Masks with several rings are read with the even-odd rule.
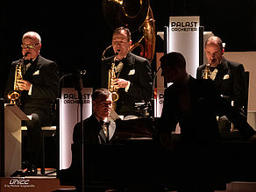
[[[7,94],[13,90],[17,63],[18,60],[11,63],[11,69],[4,90],[6,102],[8,102]],[[51,104],[58,92],[59,70],[57,64],[39,55],[27,69],[23,79],[32,83],[32,95],[29,96],[28,91],[22,91],[21,109],[25,111],[30,109],[51,110]]]

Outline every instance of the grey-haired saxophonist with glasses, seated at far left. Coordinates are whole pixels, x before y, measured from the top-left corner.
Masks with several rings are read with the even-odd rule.
[[[32,116],[26,121],[27,142],[25,149],[26,175],[37,174],[37,167],[41,166],[42,132],[41,126],[53,123],[53,101],[57,96],[59,69],[55,62],[46,60],[40,53],[41,38],[37,32],[26,32],[22,38],[22,54],[25,73],[22,79],[16,79],[17,61],[11,63],[11,69],[4,89],[6,103],[10,103],[8,93],[17,83],[20,91],[20,109],[26,115]]]

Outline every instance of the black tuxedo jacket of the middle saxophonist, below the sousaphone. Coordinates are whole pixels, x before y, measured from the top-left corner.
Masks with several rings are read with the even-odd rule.
[[[114,60],[114,56],[103,60],[101,70],[101,87],[108,89],[109,69]],[[139,57],[133,53],[128,53],[122,60],[124,67],[119,78],[131,82],[128,92],[124,89],[118,89],[119,99],[117,100],[118,115],[139,115],[134,108],[135,103],[148,102],[152,95],[152,71],[150,62],[145,58]]]

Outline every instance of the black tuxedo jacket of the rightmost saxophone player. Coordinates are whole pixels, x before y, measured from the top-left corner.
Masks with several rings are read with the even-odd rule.
[[[206,64],[199,66],[196,71],[196,79],[203,79],[203,70]],[[245,68],[242,64],[226,60],[217,67],[217,75],[214,80],[215,89],[223,95],[229,103],[234,101],[235,106],[242,108],[247,104],[247,86],[245,82]]]

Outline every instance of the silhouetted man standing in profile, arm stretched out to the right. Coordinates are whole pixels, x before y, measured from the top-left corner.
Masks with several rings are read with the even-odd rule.
[[[188,75],[186,60],[181,53],[165,54],[160,58],[160,66],[165,80],[173,82],[165,90],[160,117],[160,141],[163,146],[172,149],[171,131],[177,123],[181,126],[180,156],[176,162],[169,163],[170,169],[165,168],[176,175],[178,188],[182,191],[214,191],[217,163],[221,161],[217,159],[220,140],[217,112],[223,112],[238,125],[245,139],[255,142],[256,132],[239,110],[217,94],[212,81]]]

